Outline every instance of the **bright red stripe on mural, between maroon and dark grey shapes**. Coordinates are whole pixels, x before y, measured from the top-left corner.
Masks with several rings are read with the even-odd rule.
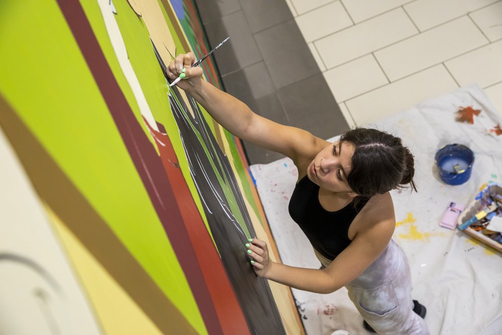
[[[221,259],[193,201],[181,169],[178,167],[178,158],[171,140],[167,134],[154,130],[146,119],[144,121],[157,143],[164,168],[171,185],[176,190],[176,200],[213,299],[223,333],[228,335],[249,334],[247,323]],[[162,130],[164,127],[159,125],[159,129]]]

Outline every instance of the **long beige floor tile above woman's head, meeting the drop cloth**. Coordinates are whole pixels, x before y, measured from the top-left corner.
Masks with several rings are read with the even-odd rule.
[[[440,64],[347,100],[345,104],[355,123],[364,126],[457,87],[446,68]]]

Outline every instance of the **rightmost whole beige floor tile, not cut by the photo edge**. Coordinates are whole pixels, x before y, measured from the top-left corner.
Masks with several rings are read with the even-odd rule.
[[[394,81],[486,43],[484,35],[464,16],[374,54]]]

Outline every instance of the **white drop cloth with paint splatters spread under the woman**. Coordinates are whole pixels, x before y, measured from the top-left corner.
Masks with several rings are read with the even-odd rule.
[[[472,125],[455,121],[456,111],[467,106],[481,110]],[[502,135],[494,132],[497,124],[502,117],[486,95],[469,86],[365,125],[401,137],[415,155],[418,193],[392,192],[398,221],[393,238],[408,256],[412,295],[427,307],[432,334],[502,334],[502,253],[438,225],[450,201],[467,204],[483,183],[500,183]],[[444,184],[434,167],[436,151],[450,143],[467,145],[476,155],[471,178],[463,185]],[[283,263],[318,268],[310,243],[288,213],[298,178],[292,161],[285,158],[250,169]],[[308,335],[337,329],[368,333],[345,288],[327,295],[293,289],[293,295]]]

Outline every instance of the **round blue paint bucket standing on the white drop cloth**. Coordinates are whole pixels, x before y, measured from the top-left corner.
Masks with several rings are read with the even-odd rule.
[[[438,150],[435,161],[442,181],[460,185],[469,180],[474,153],[464,145],[449,144]]]

